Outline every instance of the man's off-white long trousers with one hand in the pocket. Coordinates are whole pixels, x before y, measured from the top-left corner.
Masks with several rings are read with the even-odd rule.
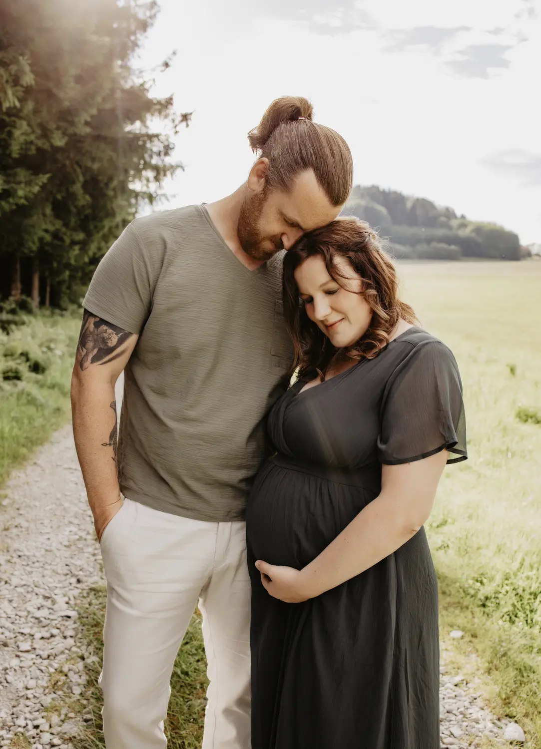
[[[169,681],[199,601],[208,662],[202,749],[250,749],[250,579],[244,523],[124,500],[101,539],[107,578],[107,749],[163,749]]]

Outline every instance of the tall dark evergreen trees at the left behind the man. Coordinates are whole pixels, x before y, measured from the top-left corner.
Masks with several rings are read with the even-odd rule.
[[[133,67],[156,13],[155,1],[1,1],[0,301],[76,300],[178,169],[182,115]]]

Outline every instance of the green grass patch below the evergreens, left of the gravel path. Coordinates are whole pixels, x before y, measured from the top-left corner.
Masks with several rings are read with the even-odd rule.
[[[0,486],[69,418],[79,327],[76,316],[43,314],[0,332]]]

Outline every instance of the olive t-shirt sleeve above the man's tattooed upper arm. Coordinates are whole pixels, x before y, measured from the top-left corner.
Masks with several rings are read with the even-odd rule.
[[[148,257],[136,228],[129,224],[101,259],[82,306],[102,320],[139,334],[151,303]]]

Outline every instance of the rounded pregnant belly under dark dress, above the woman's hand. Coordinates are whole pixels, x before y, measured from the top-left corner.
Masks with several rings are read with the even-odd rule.
[[[302,568],[377,494],[268,461],[248,501],[247,543],[257,559]]]

